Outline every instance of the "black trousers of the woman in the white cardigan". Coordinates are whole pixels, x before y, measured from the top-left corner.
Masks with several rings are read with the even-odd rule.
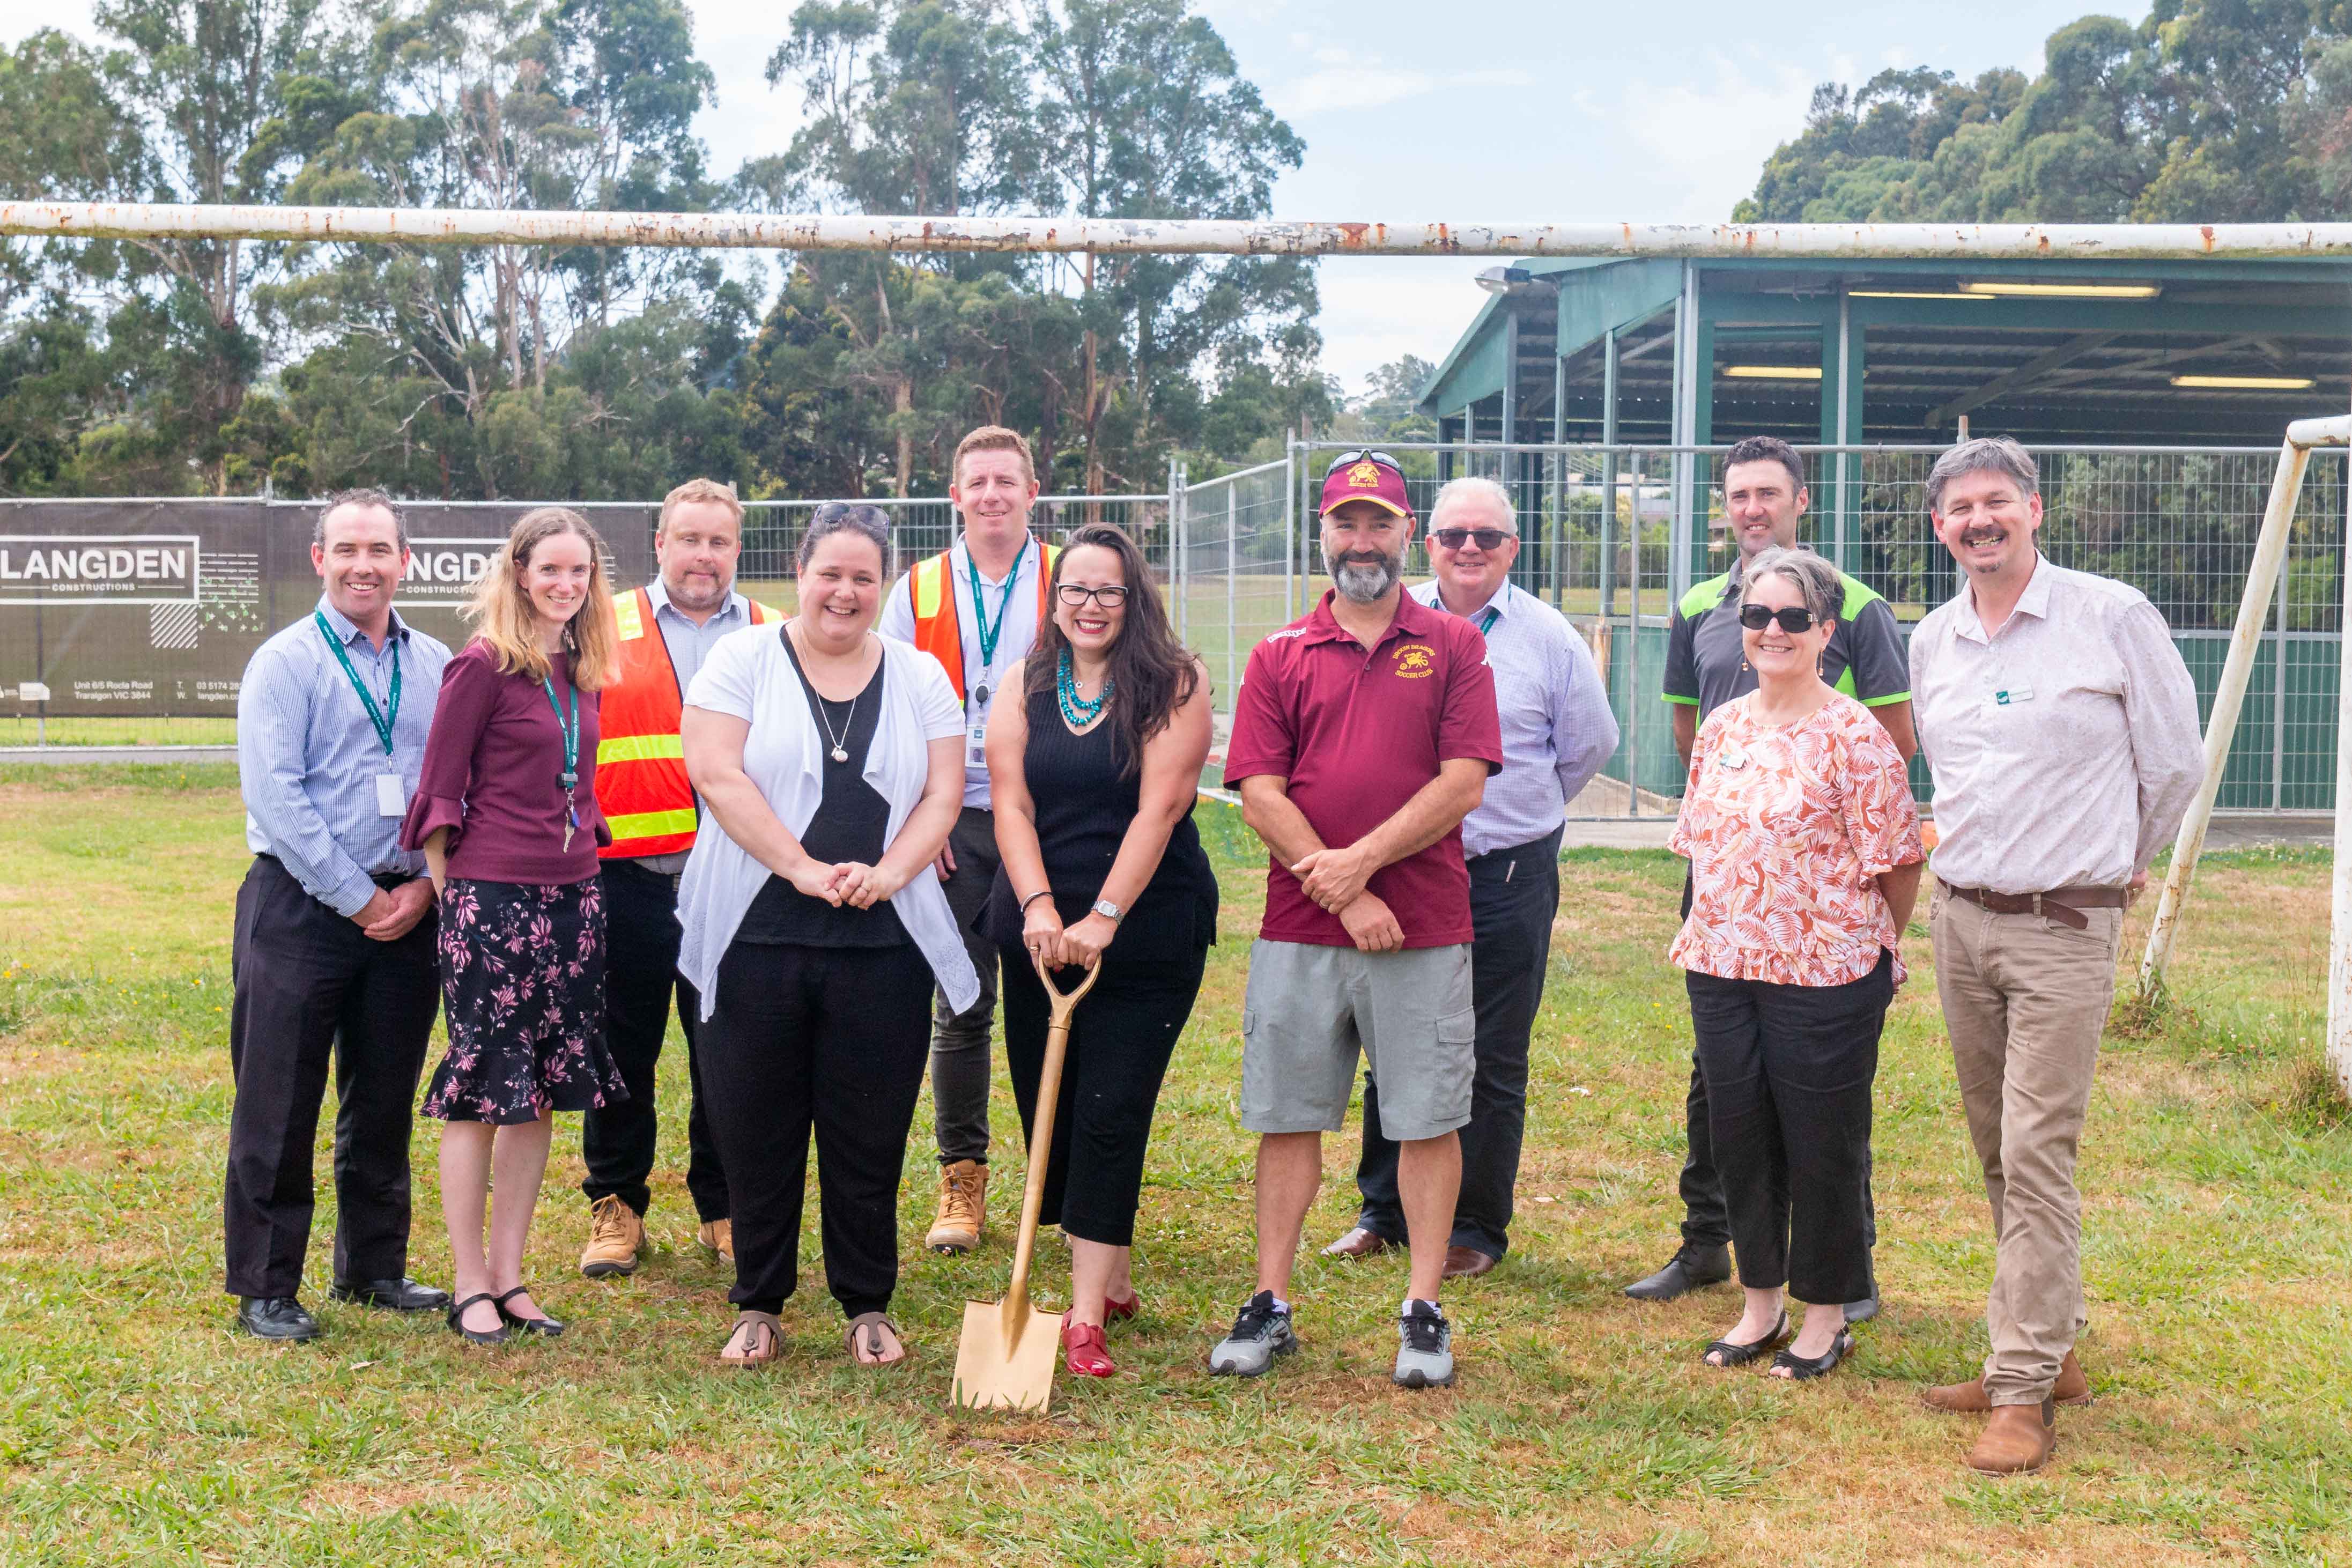
[[[701,1030],[710,1128],[734,1201],[739,1307],[776,1312],[800,1279],[816,1133],[826,1286],[844,1316],[898,1288],[898,1175],[931,1051],[931,966],[901,947],[734,943]]]

